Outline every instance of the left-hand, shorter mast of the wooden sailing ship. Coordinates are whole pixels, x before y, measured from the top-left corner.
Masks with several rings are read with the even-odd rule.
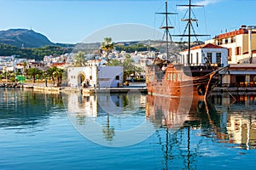
[[[170,36],[170,41],[172,41],[172,37],[171,37],[169,29],[173,29],[174,27],[173,26],[168,26],[168,15],[169,14],[177,14],[177,13],[169,13],[168,12],[168,4],[167,4],[167,0],[166,0],[166,12],[164,12],[164,13],[155,13],[155,14],[165,14],[165,17],[166,17],[166,26],[161,26],[160,29],[165,29],[164,35],[166,35],[166,54],[167,54],[167,60],[169,60],[169,45],[168,45],[168,42],[169,42],[168,37],[169,36]]]

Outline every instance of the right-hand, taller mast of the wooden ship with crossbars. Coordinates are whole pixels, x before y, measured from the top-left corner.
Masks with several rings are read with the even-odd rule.
[[[188,65],[190,65],[190,48],[191,48],[191,37],[195,37],[197,39],[197,37],[201,37],[201,36],[210,36],[210,35],[199,35],[199,34],[195,34],[195,29],[194,29],[194,26],[192,25],[192,22],[198,22],[197,19],[192,19],[191,17],[191,11],[192,11],[192,7],[204,7],[203,5],[193,5],[191,4],[191,0],[189,0],[189,4],[188,5],[177,5],[179,7],[188,7],[189,8],[189,19],[182,19],[182,21],[186,21],[187,22],[187,26],[185,28],[185,31],[187,30],[188,28],[188,34],[185,35],[173,35],[174,37],[188,37]],[[194,34],[192,35],[191,34],[191,30],[194,32]],[[185,32],[184,31],[184,32]],[[197,40],[198,41],[198,40]]]

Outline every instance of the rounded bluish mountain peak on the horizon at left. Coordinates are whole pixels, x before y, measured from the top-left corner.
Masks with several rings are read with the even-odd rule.
[[[55,45],[54,42],[50,42],[43,34],[27,29],[0,31],[0,42],[17,48],[41,48],[45,45]]]

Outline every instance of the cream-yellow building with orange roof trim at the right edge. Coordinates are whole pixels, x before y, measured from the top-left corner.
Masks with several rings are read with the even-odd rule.
[[[256,26],[241,26],[239,30],[225,32],[208,40],[228,48],[229,74],[225,75],[221,87],[234,90],[256,88]]]

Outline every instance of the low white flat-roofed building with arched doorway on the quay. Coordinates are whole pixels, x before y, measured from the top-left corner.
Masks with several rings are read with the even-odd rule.
[[[123,84],[122,66],[68,67],[67,83],[75,88],[115,88]]]

